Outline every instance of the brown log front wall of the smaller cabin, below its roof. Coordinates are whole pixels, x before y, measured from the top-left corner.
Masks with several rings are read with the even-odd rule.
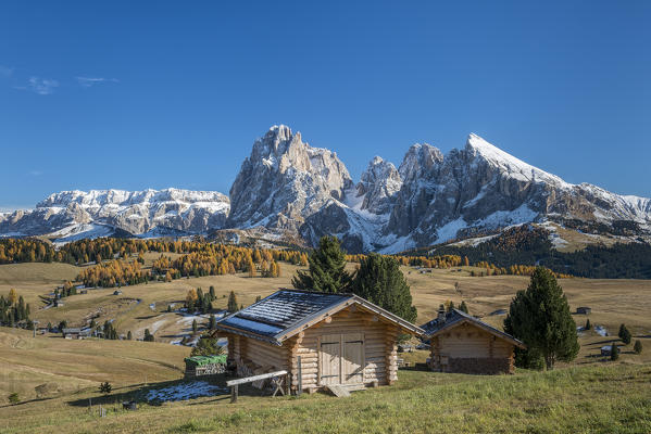
[[[467,322],[433,337],[430,345],[429,363],[435,371],[473,374],[514,371],[513,344]]]

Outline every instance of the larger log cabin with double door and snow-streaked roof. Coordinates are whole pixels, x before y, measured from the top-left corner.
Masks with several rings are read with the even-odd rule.
[[[286,370],[291,391],[361,388],[398,379],[399,334],[409,321],[353,294],[280,290],[216,323],[240,376]]]

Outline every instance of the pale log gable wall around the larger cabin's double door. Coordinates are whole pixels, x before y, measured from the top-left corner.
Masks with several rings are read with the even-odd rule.
[[[302,388],[316,390],[325,384],[320,378],[320,363],[323,353],[320,345],[324,336],[331,339],[336,335],[363,336],[362,375],[356,375],[354,382],[361,384],[391,384],[398,379],[397,337],[398,327],[385,323],[371,312],[353,307],[343,309],[326,320],[323,320],[285,344],[290,348],[292,388],[298,387],[298,356],[301,356]],[[343,357],[341,362],[346,363]],[[322,366],[322,370],[327,367]],[[338,366],[331,368],[337,370]],[[334,383],[338,381],[334,381]],[[343,380],[343,383],[347,381]]]

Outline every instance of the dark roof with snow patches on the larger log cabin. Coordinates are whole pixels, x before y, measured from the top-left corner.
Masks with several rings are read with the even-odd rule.
[[[358,304],[380,315],[410,333],[423,330],[409,321],[354,294],[333,294],[300,290],[279,290],[266,298],[231,314],[216,323],[216,329],[281,345],[283,341],[326,317]]]

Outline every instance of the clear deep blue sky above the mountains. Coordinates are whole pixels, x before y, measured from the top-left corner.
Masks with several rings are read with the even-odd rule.
[[[227,193],[274,124],[355,179],[374,155],[476,132],[569,182],[651,195],[651,2],[352,3],[0,3],[0,207]]]

